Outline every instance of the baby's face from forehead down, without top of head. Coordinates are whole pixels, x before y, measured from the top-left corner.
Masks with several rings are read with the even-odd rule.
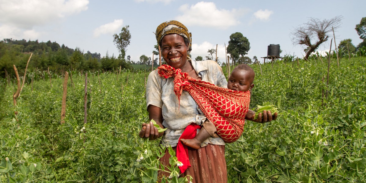
[[[244,70],[234,70],[228,79],[228,89],[236,91],[248,91],[253,88],[253,78],[250,72]]]

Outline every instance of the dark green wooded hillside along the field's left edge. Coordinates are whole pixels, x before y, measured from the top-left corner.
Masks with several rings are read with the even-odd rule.
[[[28,68],[39,70],[52,70],[63,72],[66,70],[104,70],[109,71],[113,68],[131,69],[131,64],[123,58],[116,58],[114,55],[106,53],[101,57],[100,53],[84,53],[80,48],[68,48],[57,42],[38,42],[13,40],[11,38],[0,41],[0,77],[13,75],[15,65],[18,70],[24,70],[31,55]]]

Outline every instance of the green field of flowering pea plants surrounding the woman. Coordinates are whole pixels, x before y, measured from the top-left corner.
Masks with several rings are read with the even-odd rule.
[[[279,117],[226,145],[228,182],[365,182],[366,58],[331,59],[328,85],[327,58],[251,66],[251,108],[274,104]],[[85,74],[73,72],[64,124],[61,76],[26,84],[16,107],[15,80],[1,79],[0,182],[157,182],[164,150],[138,137],[148,74],[88,72],[84,123]],[[185,182],[174,158],[169,170]]]

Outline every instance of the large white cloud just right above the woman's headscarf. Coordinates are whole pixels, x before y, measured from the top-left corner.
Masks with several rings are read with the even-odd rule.
[[[216,4],[212,2],[199,2],[189,6],[184,4],[179,7],[179,11],[183,15],[177,16],[175,19],[184,22],[184,25],[198,25],[207,27],[216,27],[226,29],[229,26],[238,25],[238,15],[243,14],[246,10],[224,10],[217,9]]]

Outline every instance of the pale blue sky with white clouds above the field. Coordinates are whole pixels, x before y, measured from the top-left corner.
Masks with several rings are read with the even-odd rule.
[[[296,27],[310,17],[343,16],[341,27],[335,31],[337,45],[351,38],[356,46],[362,40],[354,28],[366,16],[365,7],[365,0],[0,0],[0,39],[51,40],[117,57],[112,35],[128,25],[131,44],[126,56],[137,61],[141,55],[152,57],[156,27],[178,20],[192,33],[193,59],[204,58],[218,44],[217,56],[225,61],[224,44],[228,45],[235,32],[248,38],[250,58],[266,56],[269,44],[280,44],[281,56],[302,57],[304,48],[291,40]],[[330,38],[318,50],[329,50],[329,44]]]

